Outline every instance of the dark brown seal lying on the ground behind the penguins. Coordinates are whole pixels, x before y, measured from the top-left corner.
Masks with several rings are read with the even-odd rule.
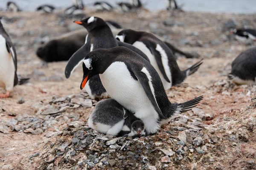
[[[116,36],[122,29],[111,29],[113,35]],[[36,55],[46,62],[56,62],[56,61],[67,61],[70,57],[77,51],[79,48],[84,45],[85,37],[87,36],[86,29],[79,29],[59,37],[55,37],[52,40],[46,42],[44,45],[40,46]],[[186,58],[198,58],[199,55],[193,55],[187,52],[184,52],[169,42],[166,42],[166,45],[172,50],[175,54],[184,55]]]

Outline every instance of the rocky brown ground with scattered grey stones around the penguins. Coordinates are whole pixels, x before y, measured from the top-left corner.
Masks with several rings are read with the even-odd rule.
[[[233,40],[228,30],[256,28],[255,14],[87,12],[151,31],[204,58],[194,75],[166,91],[177,103],[204,95],[197,108],[174,116],[156,134],[119,138],[87,127],[97,101],[79,89],[81,68],[66,79],[66,62],[47,65],[35,55],[41,37],[69,32],[74,19],[40,12],[0,15],[14,19],[4,26],[15,44],[18,72],[31,77],[14,88],[12,98],[0,99],[1,169],[256,169],[256,86],[236,86],[226,77],[233,59],[255,45]],[[196,61],[177,59],[182,69]]]

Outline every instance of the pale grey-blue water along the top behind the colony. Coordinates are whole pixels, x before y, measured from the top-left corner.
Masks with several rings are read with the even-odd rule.
[[[0,8],[5,9],[9,0],[0,0]],[[12,0],[24,11],[33,11],[39,5],[51,4],[55,7],[66,8],[71,6],[71,0]],[[83,0],[86,6],[91,5],[97,0]],[[98,0],[101,1],[101,0]],[[116,2],[128,0],[104,0],[115,6]],[[145,7],[157,11],[165,8],[165,0],[141,0]],[[176,0],[178,4],[183,4],[185,11],[205,11],[212,13],[256,13],[256,0]]]

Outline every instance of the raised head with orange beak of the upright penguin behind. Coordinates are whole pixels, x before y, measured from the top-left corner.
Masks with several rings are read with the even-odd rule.
[[[74,23],[84,26],[84,28],[86,28],[88,32],[102,26],[108,26],[104,20],[98,17],[88,17],[81,21],[74,21]]]

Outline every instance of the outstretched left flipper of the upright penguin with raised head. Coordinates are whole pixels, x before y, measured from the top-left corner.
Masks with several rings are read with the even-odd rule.
[[[65,68],[65,76],[68,79],[75,68],[83,62],[86,55],[90,52],[89,45],[84,44],[79,50],[77,50],[68,60]]]

